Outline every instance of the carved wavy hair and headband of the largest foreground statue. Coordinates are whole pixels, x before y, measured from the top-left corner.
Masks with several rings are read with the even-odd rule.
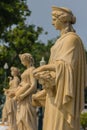
[[[74,28],[72,27],[72,24],[76,23],[76,17],[73,15],[72,11],[65,7],[52,7],[52,15],[55,16],[57,19],[59,19],[62,23],[66,23],[67,26],[67,32],[72,31],[75,32]]]

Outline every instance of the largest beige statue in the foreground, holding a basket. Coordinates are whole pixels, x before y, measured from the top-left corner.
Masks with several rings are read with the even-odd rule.
[[[68,8],[52,7],[52,24],[61,36],[51,48],[49,64],[33,71],[47,93],[43,130],[80,130],[86,58],[83,43],[72,27],[75,22]]]

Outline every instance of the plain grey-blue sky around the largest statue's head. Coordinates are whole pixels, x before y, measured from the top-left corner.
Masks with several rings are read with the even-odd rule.
[[[40,37],[45,43],[48,39],[59,35],[59,32],[51,25],[51,7],[55,5],[70,8],[77,18],[74,28],[87,49],[87,0],[27,0],[27,3],[32,11],[27,22],[48,31],[48,35]]]

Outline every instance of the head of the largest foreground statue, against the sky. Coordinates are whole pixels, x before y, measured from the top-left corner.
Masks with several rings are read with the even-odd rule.
[[[75,24],[76,17],[73,15],[72,11],[65,7],[52,7],[52,18],[57,21],[57,26],[64,27],[64,25],[69,26],[70,28],[72,24]],[[53,23],[54,25],[54,23]],[[55,26],[55,25],[54,25]],[[62,28],[61,27],[61,28]],[[74,29],[71,29],[74,31]]]

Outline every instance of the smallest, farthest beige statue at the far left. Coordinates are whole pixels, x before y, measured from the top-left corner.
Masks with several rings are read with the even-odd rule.
[[[9,77],[9,89],[4,89],[6,95],[6,102],[3,108],[2,123],[7,122],[7,124],[9,125],[9,130],[17,130],[17,102],[10,97],[10,93],[14,92],[17,89],[18,84],[20,83],[19,69],[16,67],[11,67],[11,75],[12,77]]]

